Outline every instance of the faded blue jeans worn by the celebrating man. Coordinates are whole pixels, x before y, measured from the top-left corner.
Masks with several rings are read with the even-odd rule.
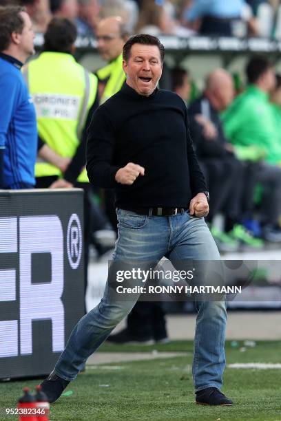
[[[117,210],[118,238],[114,261],[171,261],[183,259],[218,260],[220,255],[204,218],[189,211],[171,217],[137,215]],[[134,301],[116,301],[109,286],[101,302],[77,323],[54,371],[65,380],[74,380],[87,358],[132,310]],[[198,301],[194,341],[193,376],[196,391],[222,385],[225,369],[225,301]]]

